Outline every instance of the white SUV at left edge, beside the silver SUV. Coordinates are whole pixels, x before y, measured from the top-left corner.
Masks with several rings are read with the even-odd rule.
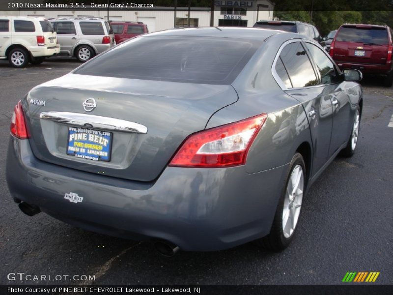
[[[0,16],[0,59],[13,67],[40,64],[60,52],[57,34],[45,18]]]

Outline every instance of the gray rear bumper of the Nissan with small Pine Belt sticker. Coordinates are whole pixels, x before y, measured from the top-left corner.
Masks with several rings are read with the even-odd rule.
[[[6,178],[14,198],[75,226],[213,251],[269,233],[286,168],[247,174],[244,166],[168,167],[154,183],[144,183],[42,162],[28,140],[11,136]],[[65,199],[70,192],[83,201]]]

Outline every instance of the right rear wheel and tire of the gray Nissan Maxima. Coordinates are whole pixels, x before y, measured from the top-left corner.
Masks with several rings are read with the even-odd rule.
[[[302,155],[297,152],[289,163],[270,233],[259,240],[264,248],[281,251],[292,241],[299,224],[306,183],[306,165]]]

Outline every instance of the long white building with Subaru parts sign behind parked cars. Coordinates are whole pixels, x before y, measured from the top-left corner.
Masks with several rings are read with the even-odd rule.
[[[156,9],[159,7],[156,7]],[[253,27],[257,20],[272,20],[274,4],[269,0],[215,0],[214,26]],[[0,11],[0,15],[21,15],[46,18],[102,17],[107,10],[14,10]],[[187,27],[188,8],[177,7],[176,18],[173,7],[162,10],[110,10],[112,21],[143,22],[150,32]],[[209,27],[210,8],[191,8],[190,27]]]

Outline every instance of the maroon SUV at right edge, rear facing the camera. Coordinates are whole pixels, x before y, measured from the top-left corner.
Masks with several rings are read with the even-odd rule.
[[[384,85],[393,84],[393,32],[388,26],[342,25],[330,48],[340,69],[358,69],[365,75],[384,77]]]

